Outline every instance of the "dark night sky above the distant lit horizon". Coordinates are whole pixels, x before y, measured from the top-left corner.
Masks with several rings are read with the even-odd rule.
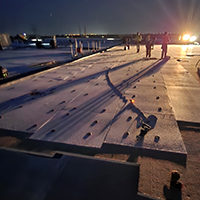
[[[0,33],[200,33],[200,0],[1,0]]]

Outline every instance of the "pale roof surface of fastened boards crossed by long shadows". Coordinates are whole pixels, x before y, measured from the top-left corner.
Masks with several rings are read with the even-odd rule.
[[[0,128],[31,140],[187,154],[177,121],[200,122],[200,83],[189,70],[200,47],[193,56],[181,47],[170,45],[160,60],[160,45],[151,59],[144,46],[139,54],[116,46],[1,85]],[[138,139],[142,122],[151,130]]]

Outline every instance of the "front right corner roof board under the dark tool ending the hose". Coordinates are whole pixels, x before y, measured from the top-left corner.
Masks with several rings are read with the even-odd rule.
[[[112,124],[105,143],[186,153],[185,145],[173,115],[143,114],[152,125],[152,129],[144,137],[138,138],[142,130],[142,118],[127,110],[116,123]],[[130,116],[132,116],[132,119],[128,121],[127,119]],[[156,136],[159,139],[156,139]]]

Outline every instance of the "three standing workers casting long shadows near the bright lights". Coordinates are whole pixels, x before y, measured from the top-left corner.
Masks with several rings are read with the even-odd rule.
[[[141,44],[141,41],[142,41],[142,35],[139,32],[136,34],[135,41],[136,41],[137,53],[139,53],[140,44]],[[145,41],[145,43],[146,43],[146,57],[151,57],[151,50],[154,48],[155,41],[156,41],[156,38],[151,38],[150,35],[147,36],[146,41]],[[167,56],[167,44],[168,44],[168,42],[169,42],[169,36],[168,36],[167,32],[165,32],[163,37],[162,37],[161,59],[166,58],[166,56]]]

